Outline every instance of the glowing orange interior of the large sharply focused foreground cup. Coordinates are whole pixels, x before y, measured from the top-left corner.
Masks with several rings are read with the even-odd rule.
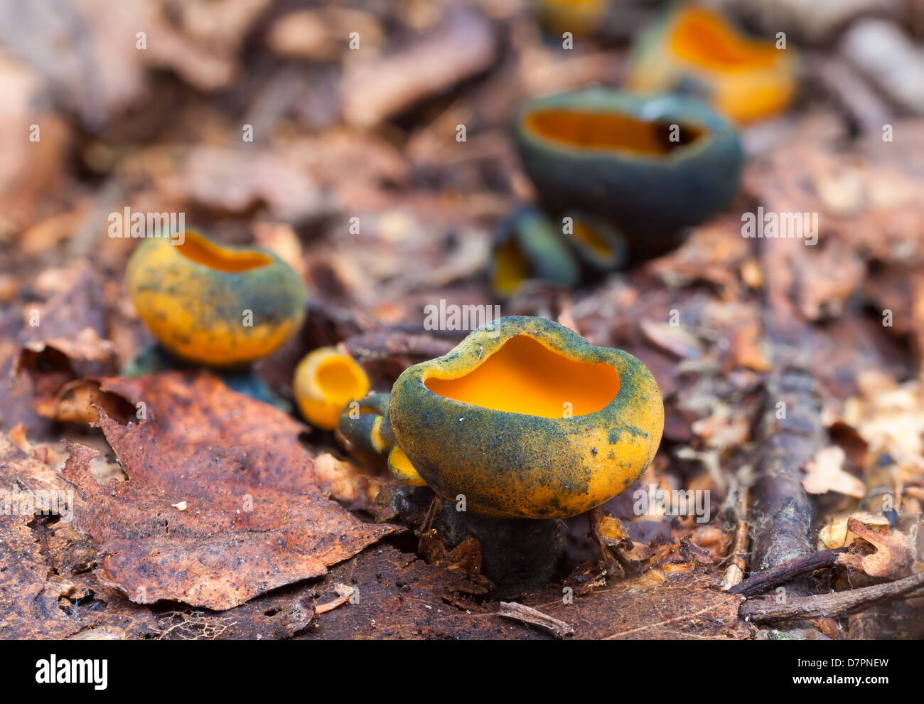
[[[563,418],[595,413],[619,393],[619,374],[607,364],[565,357],[518,334],[478,367],[457,379],[424,379],[434,394],[510,413]]]

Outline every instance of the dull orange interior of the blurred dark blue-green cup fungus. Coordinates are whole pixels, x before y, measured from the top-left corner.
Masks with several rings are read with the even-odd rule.
[[[679,127],[672,140],[672,126]],[[699,140],[700,127],[630,115],[549,108],[529,113],[525,126],[545,140],[572,147],[664,156]]]

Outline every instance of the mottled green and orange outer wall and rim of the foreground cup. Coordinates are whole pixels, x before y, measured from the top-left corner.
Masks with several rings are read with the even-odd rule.
[[[618,392],[600,410],[558,418],[474,405],[426,385],[466,376],[520,336],[582,369],[612,368]],[[504,394],[504,379],[494,382]],[[661,442],[664,415],[658,385],[637,358],[593,346],[556,322],[507,317],[472,332],[444,357],[405,370],[387,420],[420,478],[444,499],[464,496],[467,510],[489,516],[553,518],[588,511],[635,481]]]

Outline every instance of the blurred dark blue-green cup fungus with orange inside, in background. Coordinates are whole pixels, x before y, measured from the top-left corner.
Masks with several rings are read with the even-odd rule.
[[[514,133],[543,205],[611,219],[633,247],[722,209],[744,161],[730,122],[669,93],[596,88],[531,100]]]

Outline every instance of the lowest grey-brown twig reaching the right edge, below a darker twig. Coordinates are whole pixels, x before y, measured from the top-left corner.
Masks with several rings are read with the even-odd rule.
[[[738,615],[759,624],[819,616],[841,616],[862,611],[880,601],[898,599],[921,587],[924,587],[924,572],[874,587],[818,594],[813,597],[796,597],[783,603],[775,603],[772,599],[745,601],[738,607]]]

